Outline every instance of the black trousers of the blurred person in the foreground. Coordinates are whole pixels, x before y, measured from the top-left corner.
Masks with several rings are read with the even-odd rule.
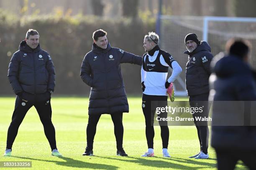
[[[250,170],[256,170],[256,154],[253,152],[246,153],[218,149],[215,149],[215,151],[218,170],[234,170],[238,160],[242,160]]]

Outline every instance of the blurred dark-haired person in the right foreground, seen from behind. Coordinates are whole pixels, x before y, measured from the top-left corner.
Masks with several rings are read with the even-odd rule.
[[[255,125],[252,118],[255,110],[251,109],[251,106],[255,108],[255,102],[251,101],[256,101],[256,83],[247,64],[249,51],[248,42],[230,40],[228,55],[222,52],[211,63],[214,67],[209,96],[214,100],[211,145],[217,154],[219,170],[235,169],[238,160],[256,170],[256,128],[246,124],[249,118]],[[252,115],[248,116],[250,112]]]

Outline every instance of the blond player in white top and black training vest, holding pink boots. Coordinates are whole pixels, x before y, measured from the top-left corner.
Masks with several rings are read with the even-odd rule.
[[[143,47],[146,53],[143,55],[143,64],[141,67],[141,85],[142,85],[142,110],[146,122],[146,139],[148,151],[141,155],[142,157],[154,156],[154,115],[155,108],[152,109],[152,101],[159,101],[157,107],[167,105],[167,88],[176,80],[182,72],[178,62],[172,55],[161,50],[159,45],[159,35],[155,32],[148,32],[143,41]],[[166,80],[168,69],[173,69],[172,75]],[[166,101],[166,104],[164,104]],[[161,112],[160,117],[167,117],[166,112]],[[162,151],[163,157],[170,158],[168,153],[169,128],[166,121],[159,121],[161,128]]]

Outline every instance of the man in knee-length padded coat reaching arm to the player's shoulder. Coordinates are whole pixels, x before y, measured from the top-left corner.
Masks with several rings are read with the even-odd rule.
[[[87,125],[87,147],[83,155],[93,154],[93,140],[101,114],[110,114],[114,123],[117,155],[127,156],[123,150],[123,112],[129,112],[120,63],[142,65],[140,56],[111,47],[107,32],[93,32],[92,51],[82,62],[81,78],[91,87],[89,119]]]

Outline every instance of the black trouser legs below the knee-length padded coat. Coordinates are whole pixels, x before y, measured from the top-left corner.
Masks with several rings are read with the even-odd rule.
[[[88,124],[86,128],[87,135],[87,147],[93,148],[93,140],[96,134],[97,123],[100,120],[101,114],[89,115]],[[114,133],[116,140],[116,148],[123,148],[123,113],[111,114],[112,121],[114,123]]]

